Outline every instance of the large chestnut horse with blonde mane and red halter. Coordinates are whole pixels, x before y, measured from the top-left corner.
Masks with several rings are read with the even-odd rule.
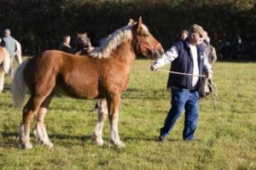
[[[128,26],[114,31],[102,47],[88,57],[49,50],[27,59],[17,69],[12,87],[15,105],[21,105],[26,87],[30,91],[20,123],[21,146],[32,148],[30,123],[35,116],[38,143],[53,147],[44,127],[44,116],[53,92],[78,99],[103,99],[93,133],[94,142],[103,144],[102,128],[108,115],[109,144],[125,146],[119,139],[119,105],[121,94],[128,86],[131,66],[137,53],[156,59],[163,52],[160,42],[149,33],[140,17],[137,23],[131,21]]]

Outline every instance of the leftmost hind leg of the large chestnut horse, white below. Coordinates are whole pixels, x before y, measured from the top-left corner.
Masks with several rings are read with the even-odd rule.
[[[39,106],[44,100],[44,96],[34,96],[31,95],[30,99],[27,101],[25,107],[23,108],[22,122],[20,124],[19,130],[19,140],[20,144],[24,149],[31,149],[32,144],[30,143],[30,122],[32,117],[37,114]]]

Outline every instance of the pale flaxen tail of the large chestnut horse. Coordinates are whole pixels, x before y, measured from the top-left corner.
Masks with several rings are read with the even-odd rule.
[[[15,108],[20,108],[20,106],[24,103],[25,100],[27,88],[23,76],[23,71],[28,61],[29,59],[23,61],[21,65],[17,68],[17,71],[15,72],[15,78],[11,87],[14,100],[13,106]]]

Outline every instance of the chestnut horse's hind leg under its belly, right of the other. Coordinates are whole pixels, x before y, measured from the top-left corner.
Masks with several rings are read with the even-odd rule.
[[[38,144],[46,145],[49,148],[52,148],[54,145],[49,141],[49,137],[46,132],[46,127],[44,125],[44,116],[46,115],[52,97],[53,94],[49,94],[49,96],[46,99],[44,99],[42,105],[40,105],[38,113],[35,116],[36,130],[34,131],[35,136],[38,139]]]

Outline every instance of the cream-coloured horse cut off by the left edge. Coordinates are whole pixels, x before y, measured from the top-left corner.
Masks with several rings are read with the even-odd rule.
[[[10,56],[9,52],[0,46],[0,93],[3,91],[4,74],[9,73]]]

